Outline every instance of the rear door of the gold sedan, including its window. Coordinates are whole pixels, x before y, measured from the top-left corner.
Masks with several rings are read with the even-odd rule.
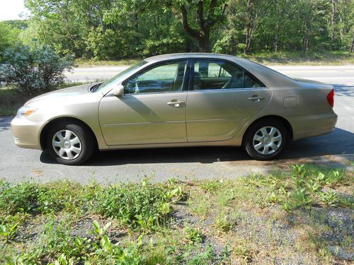
[[[195,59],[190,76],[188,142],[232,139],[272,96],[251,73],[229,61]]]

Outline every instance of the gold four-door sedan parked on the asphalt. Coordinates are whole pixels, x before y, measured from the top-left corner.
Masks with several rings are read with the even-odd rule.
[[[173,146],[244,146],[270,160],[287,141],[328,134],[336,121],[328,84],[229,55],[188,53],[33,98],[11,129],[18,146],[79,165],[96,149]]]

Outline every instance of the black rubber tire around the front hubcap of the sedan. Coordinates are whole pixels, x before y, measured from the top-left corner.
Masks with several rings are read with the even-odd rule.
[[[76,136],[78,136],[81,141],[81,153],[77,158],[73,160],[66,160],[64,158],[60,158],[57,155],[57,153],[55,153],[55,150],[52,146],[53,136],[57,133],[57,131],[61,131],[65,129],[74,132],[74,134],[76,134]],[[57,161],[57,163],[64,164],[64,165],[81,165],[91,157],[94,148],[95,146],[91,134],[89,134],[88,131],[85,131],[83,126],[79,124],[66,124],[60,122],[50,127],[50,129],[47,132],[46,151],[52,156],[52,158],[54,158]]]

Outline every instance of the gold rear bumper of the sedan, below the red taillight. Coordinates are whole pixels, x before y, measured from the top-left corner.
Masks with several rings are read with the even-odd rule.
[[[329,134],[336,128],[337,119],[334,112],[287,117],[292,125],[294,140]]]

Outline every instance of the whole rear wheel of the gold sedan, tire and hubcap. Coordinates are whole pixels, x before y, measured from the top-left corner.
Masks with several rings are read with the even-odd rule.
[[[252,124],[244,137],[244,149],[256,160],[273,160],[282,153],[289,133],[278,119],[262,119]]]

